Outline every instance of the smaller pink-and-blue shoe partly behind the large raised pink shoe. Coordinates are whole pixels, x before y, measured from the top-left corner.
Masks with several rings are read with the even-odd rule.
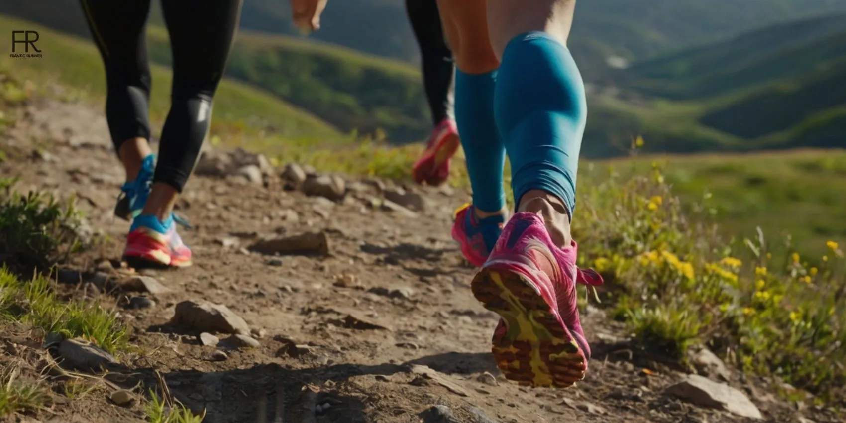
[[[461,254],[473,266],[485,264],[503,233],[505,217],[497,215],[480,219],[470,203],[460,206],[454,217],[453,239],[461,245]]]

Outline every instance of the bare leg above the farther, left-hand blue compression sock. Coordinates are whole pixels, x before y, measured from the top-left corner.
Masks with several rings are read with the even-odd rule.
[[[437,0],[455,65],[467,74],[483,74],[499,66],[488,36],[486,6],[486,0]]]

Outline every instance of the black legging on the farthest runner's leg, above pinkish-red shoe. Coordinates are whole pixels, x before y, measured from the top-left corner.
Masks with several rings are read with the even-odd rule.
[[[453,52],[443,36],[436,0],[405,0],[423,58],[423,88],[435,125],[453,114]]]

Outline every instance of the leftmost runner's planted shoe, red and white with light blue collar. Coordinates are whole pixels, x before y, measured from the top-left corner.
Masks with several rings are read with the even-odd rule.
[[[191,265],[191,250],[182,242],[173,219],[168,223],[156,217],[135,217],[126,241],[124,259],[134,267]]]

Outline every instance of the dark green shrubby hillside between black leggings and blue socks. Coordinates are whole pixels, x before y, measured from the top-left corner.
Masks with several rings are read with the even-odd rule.
[[[168,32],[151,26],[151,58],[170,64]],[[227,74],[309,110],[343,131],[384,129],[398,143],[431,130],[420,72],[407,63],[242,30]]]

